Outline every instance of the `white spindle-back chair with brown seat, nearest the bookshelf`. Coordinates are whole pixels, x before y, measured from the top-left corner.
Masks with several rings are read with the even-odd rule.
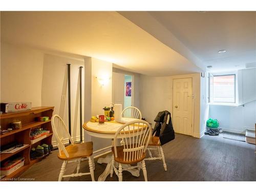
[[[51,123],[52,123],[52,130],[58,144],[58,150],[59,150],[58,158],[60,160],[63,160],[58,181],[61,181],[63,177],[78,177],[82,175],[91,175],[92,181],[95,181],[94,180],[95,165],[91,157],[91,155],[93,154],[93,142],[84,142],[84,143],[74,144],[74,141],[72,140],[68,132],[67,126],[58,115],[54,115],[52,117]],[[68,136],[71,142],[69,146],[65,147],[63,142],[63,139],[64,139],[63,135]],[[87,159],[89,160],[90,173],[79,173],[81,161],[84,161]],[[64,175],[66,172],[66,166],[70,162],[77,162],[76,173],[70,174],[70,175]]]

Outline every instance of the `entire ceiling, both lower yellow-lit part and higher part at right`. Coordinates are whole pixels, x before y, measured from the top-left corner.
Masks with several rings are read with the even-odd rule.
[[[256,61],[256,12],[1,12],[1,41],[151,76],[230,71]]]

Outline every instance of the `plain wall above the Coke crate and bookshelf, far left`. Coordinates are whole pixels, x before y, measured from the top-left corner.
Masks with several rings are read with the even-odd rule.
[[[43,61],[38,50],[1,43],[1,102],[41,106]]]

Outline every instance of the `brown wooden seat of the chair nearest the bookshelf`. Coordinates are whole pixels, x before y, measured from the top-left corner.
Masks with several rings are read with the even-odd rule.
[[[65,153],[62,151],[61,155],[58,154],[60,160],[72,160],[77,158],[90,157],[93,154],[93,142],[85,142],[78,144],[71,144],[65,147],[69,157],[66,157]]]

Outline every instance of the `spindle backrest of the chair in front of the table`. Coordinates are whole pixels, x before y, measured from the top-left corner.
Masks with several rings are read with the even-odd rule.
[[[122,125],[114,137],[115,157],[117,157],[117,143],[122,140],[124,161],[136,161],[142,158],[148,142],[152,137],[150,124],[143,120],[134,120]]]

